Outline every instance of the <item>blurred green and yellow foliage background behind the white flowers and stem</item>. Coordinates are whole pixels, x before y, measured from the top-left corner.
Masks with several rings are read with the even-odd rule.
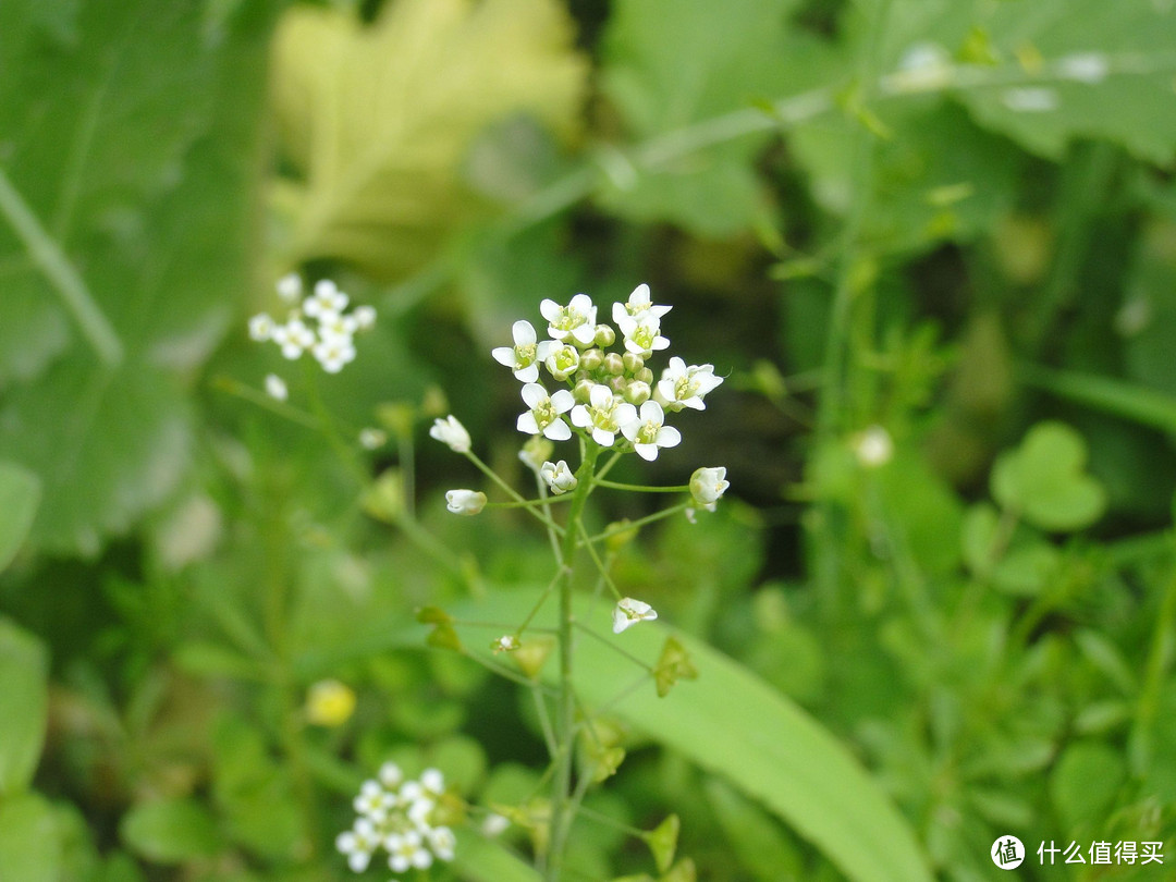
[[[449,519],[425,427],[521,480],[489,349],[639,281],[727,375],[641,479],[735,499],[616,552],[700,677],[613,708],[593,811],[676,813],[663,880],[980,880],[1010,833],[1164,877],[1033,853],[1176,861],[1174,46],[1158,0],[0,4],[0,880],[343,878],[387,756],[524,801],[526,690],[414,612],[509,617],[547,548]],[[381,316],[315,385],[243,333],[293,268]]]

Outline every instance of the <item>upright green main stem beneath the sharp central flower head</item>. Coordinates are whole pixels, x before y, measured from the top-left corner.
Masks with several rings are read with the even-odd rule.
[[[574,589],[574,564],[580,519],[583,516],[584,503],[592,492],[596,459],[600,446],[594,441],[581,439],[582,457],[576,469],[576,489],[572,497],[572,508],[563,529],[563,563],[560,570],[560,683],[556,697],[555,733],[559,739],[559,753],[555,763],[555,776],[552,783],[552,827],[549,842],[549,860],[547,863],[547,882],[557,882],[563,864],[563,849],[567,846],[568,831],[572,827],[574,800],[572,791],[572,767],[575,759],[574,739],[576,728],[575,696],[573,694],[572,673],[574,654],[574,612],[572,608]]]

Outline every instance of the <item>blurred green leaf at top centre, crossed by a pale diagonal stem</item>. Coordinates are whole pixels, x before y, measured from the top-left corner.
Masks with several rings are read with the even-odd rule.
[[[787,42],[794,2],[736,0],[715,14],[706,0],[622,0],[614,4],[604,35],[604,93],[639,140],[674,135],[703,120],[744,111],[796,88]],[[643,167],[606,156],[610,186],[606,205],[637,221],[664,220],[701,235],[747,229],[767,209],[753,162],[770,134],[721,139]],[[687,140],[689,140],[687,138]]]

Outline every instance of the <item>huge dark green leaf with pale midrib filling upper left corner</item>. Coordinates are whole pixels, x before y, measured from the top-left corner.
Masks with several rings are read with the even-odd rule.
[[[246,288],[279,5],[0,5],[0,457],[41,479],[40,547],[98,553],[186,469],[183,383]]]

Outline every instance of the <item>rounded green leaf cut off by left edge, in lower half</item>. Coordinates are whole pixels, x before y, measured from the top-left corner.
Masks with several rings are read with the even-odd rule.
[[[0,619],[0,804],[28,787],[36,770],[48,714],[48,670],[41,642]]]

